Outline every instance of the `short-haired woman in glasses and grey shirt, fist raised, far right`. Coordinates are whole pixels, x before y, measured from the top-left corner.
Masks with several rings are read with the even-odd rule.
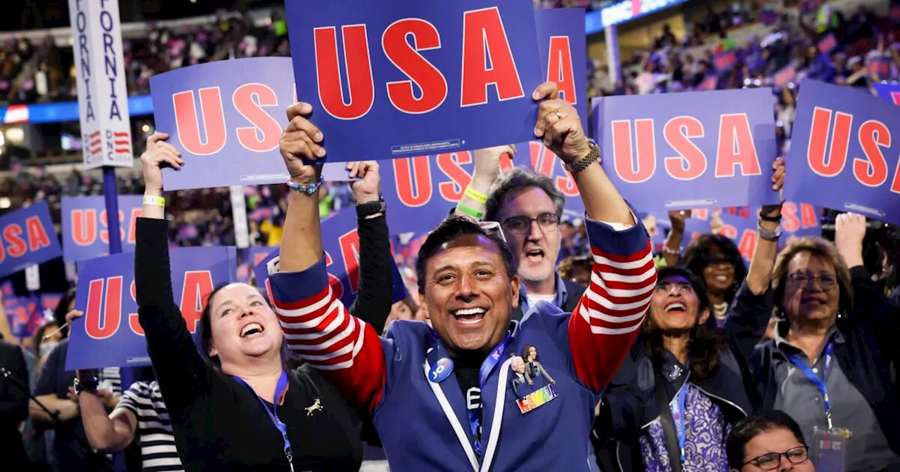
[[[842,214],[835,244],[804,237],[781,251],[772,289],[782,319],[752,363],[761,409],[788,412],[809,444],[838,441],[848,472],[900,469],[900,405],[888,359],[900,340],[900,313],[863,267],[865,236],[865,218]],[[829,453],[814,451],[813,460]]]

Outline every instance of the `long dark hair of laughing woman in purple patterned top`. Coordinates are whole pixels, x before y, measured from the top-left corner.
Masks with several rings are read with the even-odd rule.
[[[707,289],[699,278],[688,270],[680,267],[663,267],[657,275],[657,284],[662,284],[669,277],[684,277],[697,293],[699,306],[698,314],[709,308]],[[651,308],[653,309],[653,308]],[[665,359],[666,348],[662,345],[662,329],[653,325],[653,317],[647,316],[644,325],[641,326],[639,337],[644,343],[644,352],[653,361],[657,368],[662,366]],[[725,349],[725,340],[719,333],[716,325],[716,317],[711,313],[707,316],[707,322],[697,324],[691,328],[690,343],[688,345],[688,359],[690,375],[693,380],[702,381],[716,372],[719,365],[719,353]]]

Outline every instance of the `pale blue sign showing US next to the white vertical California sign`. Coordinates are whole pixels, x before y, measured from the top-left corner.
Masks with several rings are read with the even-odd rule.
[[[290,58],[244,58],[150,77],[157,129],[184,158],[180,170],[163,170],[166,190],[287,182],[278,142],[297,101],[292,67]],[[322,177],[348,180],[341,163]]]

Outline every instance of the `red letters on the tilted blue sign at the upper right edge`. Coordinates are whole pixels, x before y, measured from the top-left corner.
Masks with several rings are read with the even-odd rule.
[[[841,174],[847,165],[852,141],[859,143],[863,156],[853,158],[853,178],[867,187],[880,187],[886,183],[890,169],[884,148],[891,146],[891,131],[887,125],[878,120],[866,120],[855,128],[853,115],[823,107],[813,110],[806,147],[809,168],[823,177]],[[900,193],[900,167],[894,171],[890,191]]]

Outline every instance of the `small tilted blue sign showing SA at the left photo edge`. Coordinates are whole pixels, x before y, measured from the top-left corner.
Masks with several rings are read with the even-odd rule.
[[[0,217],[0,278],[62,255],[46,201]]]

